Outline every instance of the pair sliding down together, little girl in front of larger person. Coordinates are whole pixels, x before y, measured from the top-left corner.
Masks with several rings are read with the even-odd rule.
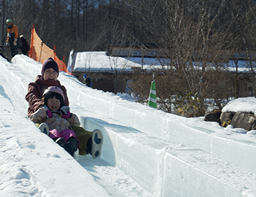
[[[41,70],[42,75],[35,82],[28,84],[28,116],[40,125],[40,129],[48,134],[70,155],[79,149],[79,155],[91,154],[99,157],[103,135],[98,129],[90,132],[79,127],[76,114],[70,113],[67,90],[58,81],[59,68],[54,59],[47,59]],[[51,104],[52,102],[52,104]],[[60,103],[57,105],[56,103]],[[65,143],[64,143],[65,141]]]

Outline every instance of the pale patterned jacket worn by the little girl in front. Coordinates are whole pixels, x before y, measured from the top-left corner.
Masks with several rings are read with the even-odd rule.
[[[72,113],[71,113],[72,114]],[[52,113],[52,118],[47,117],[47,111],[45,108],[39,108],[35,113],[29,117],[34,123],[45,122],[49,126],[49,130],[57,129],[59,132],[64,129],[71,129],[70,126],[79,127],[80,122],[76,114],[72,114],[70,118],[61,118],[59,113]]]

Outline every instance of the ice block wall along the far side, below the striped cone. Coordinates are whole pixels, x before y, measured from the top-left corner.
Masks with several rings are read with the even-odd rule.
[[[256,153],[256,139],[234,132],[230,135],[223,127],[211,130],[211,124],[214,122],[202,120],[198,122],[198,127],[193,118],[164,113],[135,102],[131,105],[127,100],[113,97],[113,93],[93,90],[82,83],[77,83],[74,77],[67,77],[67,74],[60,74],[60,81],[66,86],[69,99],[84,107],[86,111],[113,118],[164,141],[199,148],[256,173],[256,168],[253,167],[256,166],[256,157],[249,156]],[[81,114],[84,115],[86,116],[86,112]],[[234,146],[237,152],[233,151]]]

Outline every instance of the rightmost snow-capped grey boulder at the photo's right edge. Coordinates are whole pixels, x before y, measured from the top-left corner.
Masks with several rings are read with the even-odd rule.
[[[235,128],[243,128],[245,130],[256,129],[256,118],[250,113],[237,112],[232,118],[231,125]]]

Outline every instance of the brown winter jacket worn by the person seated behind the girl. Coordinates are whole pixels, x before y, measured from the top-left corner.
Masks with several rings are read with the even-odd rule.
[[[42,75],[36,77],[36,81],[28,84],[28,93],[26,94],[25,99],[28,101],[28,116],[35,113],[37,109],[44,106],[44,102],[41,100],[43,97],[44,91],[50,86],[58,86],[61,88],[65,95],[65,106],[69,105],[67,90],[64,86],[61,86],[60,81],[54,80],[43,80]]]

